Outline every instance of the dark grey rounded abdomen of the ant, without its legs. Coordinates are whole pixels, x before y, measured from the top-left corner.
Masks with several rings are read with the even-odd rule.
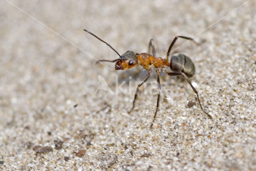
[[[184,72],[188,77],[192,77],[196,71],[192,60],[184,54],[174,54],[171,58],[170,68],[174,72]]]

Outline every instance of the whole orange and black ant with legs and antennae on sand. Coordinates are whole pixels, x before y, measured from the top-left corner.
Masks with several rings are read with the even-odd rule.
[[[100,39],[98,36],[89,32],[88,30],[84,29],[84,31],[88,32],[89,34],[96,37],[101,42],[108,45],[112,50],[114,50],[114,52],[116,52],[116,54],[118,54],[118,52],[114,48],[112,48],[112,46],[110,46],[110,44],[108,44],[104,40]],[[150,48],[152,48],[153,56],[150,54],[146,54],[146,53],[138,54],[133,51],[126,51],[122,55],[118,54],[118,56],[120,58],[118,58],[116,60],[99,60],[98,61],[98,62],[116,62],[116,65],[115,65],[116,70],[128,70],[128,69],[136,66],[137,64],[140,64],[144,69],[148,70],[148,74],[146,75],[146,77],[140,82],[140,84],[138,84],[138,87],[136,89],[136,93],[134,96],[134,100],[132,103],[132,109],[128,113],[130,113],[134,109],[135,101],[136,101],[138,91],[139,91],[139,87],[141,87],[148,80],[150,73],[151,73],[151,67],[153,66],[156,69],[156,80],[158,82],[158,98],[157,98],[157,103],[156,103],[156,112],[155,112],[154,119],[153,119],[150,127],[152,127],[152,125],[156,119],[156,113],[157,113],[158,107],[159,107],[160,89],[161,89],[159,73],[161,71],[166,73],[168,76],[181,76],[181,77],[185,78],[187,80],[188,84],[192,87],[192,89],[196,93],[200,107],[201,107],[202,111],[204,111],[204,109],[201,105],[201,101],[198,96],[198,92],[196,91],[195,87],[191,84],[191,82],[189,80],[189,78],[195,74],[195,66],[194,66],[194,63],[192,62],[192,60],[184,54],[174,54],[169,63],[170,51],[172,49],[172,46],[175,44],[175,42],[178,38],[192,40],[195,44],[199,45],[192,38],[185,37],[185,36],[176,36],[174,38],[174,40],[172,41],[172,43],[170,44],[169,49],[166,54],[166,59],[164,60],[162,58],[156,57],[156,49],[154,46],[154,40],[151,39],[149,42],[148,48],[149,48],[149,51],[150,51]],[[170,67],[170,69],[174,72],[168,72],[167,69],[165,68],[165,66]],[[210,118],[212,118],[212,116],[209,115],[208,113],[206,113],[206,111],[204,111],[204,113],[206,115],[208,115]]]

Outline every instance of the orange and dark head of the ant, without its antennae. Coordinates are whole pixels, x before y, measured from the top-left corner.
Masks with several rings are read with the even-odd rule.
[[[128,70],[138,64],[138,60],[135,52],[126,51],[118,61],[116,62],[115,69],[116,70]]]

